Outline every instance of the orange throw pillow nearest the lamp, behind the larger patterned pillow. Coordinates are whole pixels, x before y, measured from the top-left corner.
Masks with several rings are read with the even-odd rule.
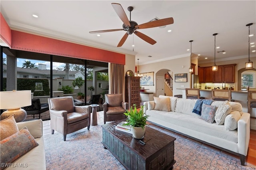
[[[3,140],[19,131],[14,116],[0,121],[0,140]]]

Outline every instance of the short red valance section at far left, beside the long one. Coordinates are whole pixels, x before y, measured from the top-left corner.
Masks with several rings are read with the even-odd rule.
[[[12,46],[12,33],[2,13],[0,13],[0,36],[1,39],[9,46]]]

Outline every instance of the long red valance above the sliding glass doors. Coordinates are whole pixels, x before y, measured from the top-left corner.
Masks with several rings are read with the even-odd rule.
[[[125,54],[12,30],[12,49],[125,65]]]

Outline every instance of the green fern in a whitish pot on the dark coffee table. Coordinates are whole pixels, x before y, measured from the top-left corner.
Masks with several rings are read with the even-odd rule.
[[[127,117],[127,123],[124,125],[130,125],[131,131],[132,131],[132,137],[136,139],[144,138],[145,134],[145,126],[146,121],[149,115],[146,115],[144,113],[144,105],[140,106],[140,110],[138,111],[136,108],[136,104],[133,105],[134,109],[132,107],[129,110],[126,110],[124,115]]]

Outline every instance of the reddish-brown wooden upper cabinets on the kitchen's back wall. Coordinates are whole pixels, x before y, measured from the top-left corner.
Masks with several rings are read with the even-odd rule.
[[[198,67],[199,83],[234,83],[236,64],[218,65],[217,71],[212,67]]]

